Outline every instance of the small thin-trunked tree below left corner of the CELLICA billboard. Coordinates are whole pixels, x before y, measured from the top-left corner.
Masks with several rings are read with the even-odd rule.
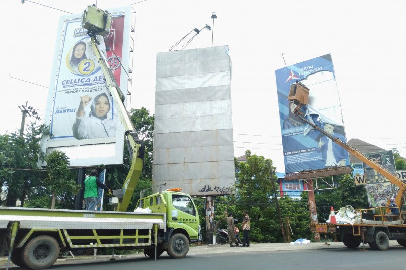
[[[45,185],[52,194],[51,209],[55,208],[56,197],[65,191],[77,194],[81,186],[69,178],[69,158],[62,151],[53,151],[46,158],[48,176]]]

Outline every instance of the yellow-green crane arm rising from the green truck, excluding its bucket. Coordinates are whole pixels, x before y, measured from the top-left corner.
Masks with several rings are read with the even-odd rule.
[[[110,90],[110,94],[113,97],[114,104],[116,105],[117,111],[119,112],[120,121],[124,126],[125,137],[127,142],[127,148],[132,159],[131,168],[128,172],[125,182],[123,184],[123,198],[117,205],[116,211],[126,211],[127,207],[131,201],[131,197],[134,193],[134,189],[137,186],[138,180],[143,169],[143,159],[145,146],[142,141],[137,138],[136,133],[134,132],[134,126],[132,125],[131,119],[127,113],[127,110],[124,107],[124,95],[122,94],[120,88],[116,84],[114,79],[113,72],[107,63],[107,60],[104,58],[103,54],[100,52],[97,46],[97,37],[95,35],[91,36],[91,45],[98,63],[103,71],[106,87]]]

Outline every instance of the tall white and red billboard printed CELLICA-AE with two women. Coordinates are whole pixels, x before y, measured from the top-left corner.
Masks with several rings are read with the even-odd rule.
[[[126,96],[131,7],[109,13],[111,31],[99,37],[99,48]],[[60,17],[45,115],[51,135],[42,149],[66,152],[71,166],[122,163],[124,128],[81,17]]]

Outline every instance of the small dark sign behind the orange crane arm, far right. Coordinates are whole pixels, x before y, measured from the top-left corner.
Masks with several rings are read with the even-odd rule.
[[[395,161],[392,151],[369,153],[369,159],[396,175]],[[386,205],[390,197],[396,197],[399,188],[392,185],[386,177],[364,163],[364,179],[367,183],[366,193],[370,207]]]

